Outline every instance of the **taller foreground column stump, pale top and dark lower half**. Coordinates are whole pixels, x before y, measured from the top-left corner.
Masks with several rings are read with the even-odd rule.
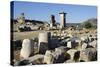
[[[40,53],[45,54],[46,50],[48,50],[49,41],[50,41],[50,33],[49,32],[39,33],[38,51]]]

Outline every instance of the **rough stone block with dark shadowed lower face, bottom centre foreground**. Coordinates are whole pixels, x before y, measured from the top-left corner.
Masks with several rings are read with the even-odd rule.
[[[55,48],[55,52],[52,53],[54,63],[64,63],[65,60],[70,59],[70,55],[66,53],[67,50],[68,48],[65,46]]]

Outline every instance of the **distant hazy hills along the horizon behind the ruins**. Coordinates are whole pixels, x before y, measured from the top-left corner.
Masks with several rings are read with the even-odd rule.
[[[16,23],[17,22],[17,20],[11,20],[12,22],[14,22],[14,23]],[[46,21],[39,21],[39,20],[28,20],[28,19],[26,19],[25,20],[25,22],[27,23],[27,22],[31,22],[31,23],[33,23],[34,25],[36,25],[36,24],[49,24],[48,22],[46,22]],[[88,19],[88,20],[85,20],[85,21],[83,21],[82,23],[66,23],[66,26],[67,27],[70,27],[70,26],[79,26],[79,27],[82,27],[82,26],[84,26],[84,24],[85,23],[87,23],[87,22],[89,22],[89,23],[91,23],[94,27],[97,27],[97,19],[96,18],[90,18],[90,19]],[[60,23],[56,23],[56,24],[58,24],[58,25],[60,25]]]

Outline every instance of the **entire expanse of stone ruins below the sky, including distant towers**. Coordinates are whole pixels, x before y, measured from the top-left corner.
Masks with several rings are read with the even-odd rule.
[[[97,60],[97,30],[68,28],[66,13],[59,14],[58,27],[54,15],[50,16],[50,24],[41,24],[25,22],[21,14],[16,24],[19,32],[14,32],[15,66]]]

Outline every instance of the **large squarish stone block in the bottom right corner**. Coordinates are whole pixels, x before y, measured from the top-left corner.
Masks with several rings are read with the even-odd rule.
[[[87,48],[80,51],[80,61],[96,61],[97,60],[97,50],[94,48]]]

